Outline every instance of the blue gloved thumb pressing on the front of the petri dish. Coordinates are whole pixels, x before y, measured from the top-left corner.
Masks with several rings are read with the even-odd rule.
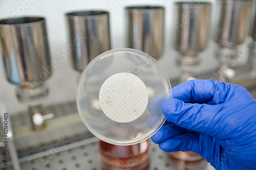
[[[177,99],[165,99],[162,103],[165,118],[175,125],[215,136],[221,119],[218,105],[184,103]]]

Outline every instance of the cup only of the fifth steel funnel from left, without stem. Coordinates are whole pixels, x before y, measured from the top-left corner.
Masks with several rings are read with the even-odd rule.
[[[225,47],[244,42],[250,26],[251,0],[217,0],[214,40]]]

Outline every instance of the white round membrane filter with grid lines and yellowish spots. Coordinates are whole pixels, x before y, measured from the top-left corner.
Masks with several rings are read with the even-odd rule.
[[[147,88],[137,76],[121,72],[106,79],[99,91],[104,114],[119,123],[140,117],[148,103]]]

